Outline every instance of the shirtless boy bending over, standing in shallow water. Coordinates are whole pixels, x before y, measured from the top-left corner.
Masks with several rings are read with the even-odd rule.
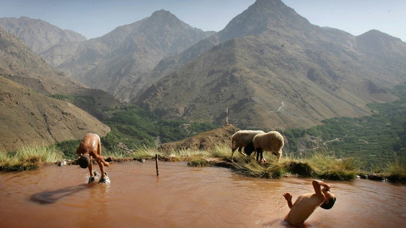
[[[79,165],[81,168],[86,169],[89,168],[90,178],[89,182],[94,181],[94,174],[92,172],[93,165],[92,159],[94,158],[98,163],[101,171],[101,178],[98,181],[99,183],[106,182],[106,173],[105,173],[105,166],[110,167],[110,163],[105,161],[105,157],[101,156],[101,143],[100,137],[96,134],[87,134],[83,138],[82,142],[79,144],[79,147],[76,149],[76,154],[79,155]],[[107,158],[106,160],[111,161],[112,158]]]

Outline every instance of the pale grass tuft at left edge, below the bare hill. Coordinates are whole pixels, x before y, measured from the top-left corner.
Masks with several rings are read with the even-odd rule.
[[[0,169],[8,171],[37,169],[62,158],[63,156],[53,146],[25,144],[15,151],[0,151]]]

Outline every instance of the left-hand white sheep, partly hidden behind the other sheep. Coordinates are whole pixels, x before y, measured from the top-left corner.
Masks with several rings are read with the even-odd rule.
[[[232,136],[231,136],[231,161],[234,162],[234,160],[232,159],[232,156],[234,155],[234,151],[238,148],[238,151],[245,156],[249,156],[247,154],[245,154],[243,151],[241,151],[241,149],[252,143],[252,139],[254,138],[255,135],[260,134],[260,133],[265,133],[263,131],[252,131],[252,130],[242,130],[242,131],[238,131],[235,132]],[[254,150],[249,149],[246,150],[247,153],[249,153],[251,155],[251,153]]]

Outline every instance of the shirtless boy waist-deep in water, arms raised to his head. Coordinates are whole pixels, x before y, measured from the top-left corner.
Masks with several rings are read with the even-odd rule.
[[[292,205],[292,195],[284,193],[288,206],[289,213],[285,217],[285,221],[298,227],[302,227],[304,221],[309,218],[313,211],[320,206],[324,209],[330,209],[335,202],[335,196],[330,192],[330,186],[320,180],[313,180],[314,194],[302,194]],[[321,186],[324,188],[321,189]]]

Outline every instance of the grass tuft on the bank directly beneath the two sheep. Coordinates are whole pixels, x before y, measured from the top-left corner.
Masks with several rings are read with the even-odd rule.
[[[258,163],[252,157],[236,157],[236,163],[233,164],[233,169],[241,174],[261,177],[261,178],[281,178],[287,173],[284,165],[278,163],[276,160],[266,162],[263,164]]]

